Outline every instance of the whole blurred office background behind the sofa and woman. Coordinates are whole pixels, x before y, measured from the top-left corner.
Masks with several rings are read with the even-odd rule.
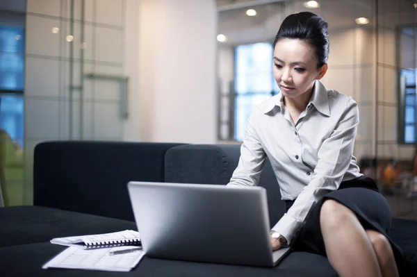
[[[279,92],[283,19],[329,24],[328,88],[359,103],[354,155],[417,219],[417,3],[409,0],[0,0],[0,203],[31,205],[46,140],[240,143]],[[279,139],[279,134],[277,135]]]

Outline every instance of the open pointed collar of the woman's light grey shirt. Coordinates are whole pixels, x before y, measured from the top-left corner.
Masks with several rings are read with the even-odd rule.
[[[322,82],[316,81],[313,87],[313,94],[311,95],[311,99],[309,101],[309,105],[313,105],[316,109],[321,112],[323,115],[330,116],[330,109],[329,109],[329,99],[327,98],[327,88],[323,85]],[[263,113],[270,112],[275,106],[278,106],[279,109],[282,109],[282,93],[279,92],[277,95],[273,96],[270,103],[266,106]]]

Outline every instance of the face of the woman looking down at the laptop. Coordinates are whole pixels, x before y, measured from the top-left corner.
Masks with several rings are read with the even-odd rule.
[[[281,39],[275,44],[273,68],[282,94],[295,98],[311,90],[314,81],[325,75],[327,64],[317,68],[316,53],[310,44],[297,39]]]

